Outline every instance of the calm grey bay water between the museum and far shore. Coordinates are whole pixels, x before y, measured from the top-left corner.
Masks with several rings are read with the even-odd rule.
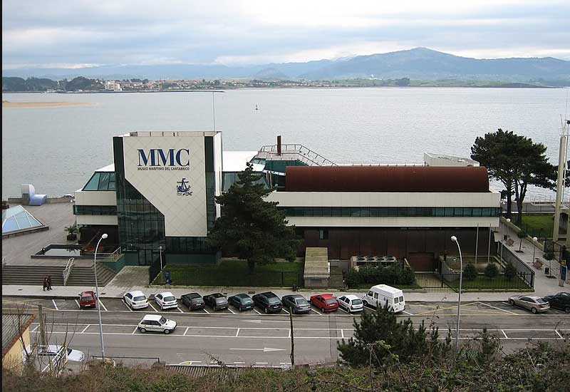
[[[335,163],[422,163],[423,153],[468,157],[497,128],[559,153],[567,89],[244,89],[216,93],[224,150],[297,143]],[[77,190],[113,163],[114,135],[134,130],[212,130],[212,93],[19,93],[11,102],[89,105],[2,109],[2,197],[31,183],[50,196]],[[255,110],[255,107],[259,110]],[[532,189],[533,197],[551,191]]]

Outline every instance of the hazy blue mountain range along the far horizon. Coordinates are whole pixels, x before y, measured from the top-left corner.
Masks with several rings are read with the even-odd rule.
[[[3,70],[2,76],[23,78],[148,78],[215,79],[263,78],[334,80],[354,78],[410,78],[413,80],[460,81],[551,81],[570,82],[570,61],[558,58],[478,59],[454,56],[428,48],[413,48],[340,60],[306,63],[270,63],[256,66],[170,64],[155,66],[96,66],[90,68],[19,68]]]

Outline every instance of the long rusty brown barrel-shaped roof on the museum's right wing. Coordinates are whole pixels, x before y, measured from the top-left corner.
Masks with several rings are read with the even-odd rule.
[[[486,167],[288,166],[288,192],[489,192]]]

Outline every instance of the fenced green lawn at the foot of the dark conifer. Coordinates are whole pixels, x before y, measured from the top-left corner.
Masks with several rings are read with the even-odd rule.
[[[293,287],[299,284],[304,264],[258,265],[253,274],[249,274],[244,260],[225,260],[217,266],[170,264],[165,270],[170,271],[174,286]],[[158,280],[153,283],[161,284]]]

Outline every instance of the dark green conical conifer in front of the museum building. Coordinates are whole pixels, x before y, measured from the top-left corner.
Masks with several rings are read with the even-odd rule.
[[[216,197],[222,216],[208,233],[209,244],[246,259],[250,272],[257,263],[273,262],[276,257],[294,260],[299,243],[295,227],[287,225],[285,214],[277,209],[278,202],[264,200],[271,189],[252,164],[238,177],[228,192]]]

